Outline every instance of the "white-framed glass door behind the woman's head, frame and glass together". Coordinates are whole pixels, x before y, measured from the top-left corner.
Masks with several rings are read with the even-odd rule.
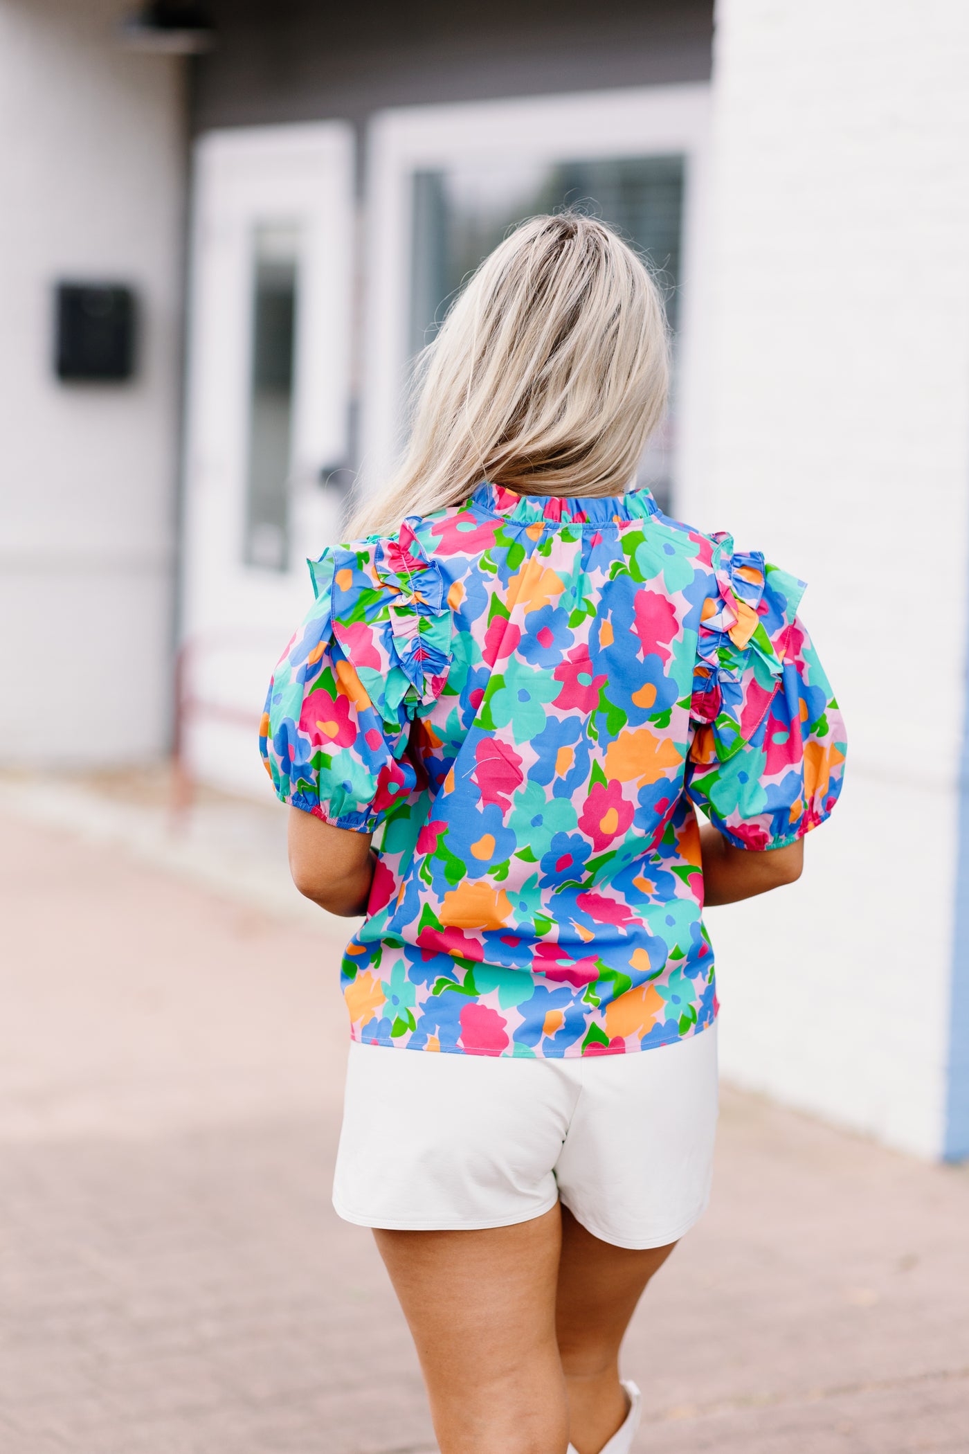
[[[407,365],[433,339],[481,259],[523,218],[577,206],[620,231],[665,297],[671,407],[638,481],[665,509],[674,500],[681,506],[689,493],[683,433],[693,426],[684,400],[686,343],[696,317],[689,302],[699,292],[690,234],[702,196],[706,109],[706,87],[683,86],[401,109],[375,122],[370,215],[381,220],[384,243],[372,244],[372,300],[381,310],[372,311],[369,329],[372,458],[386,468]],[[386,365],[394,356],[395,374]]]

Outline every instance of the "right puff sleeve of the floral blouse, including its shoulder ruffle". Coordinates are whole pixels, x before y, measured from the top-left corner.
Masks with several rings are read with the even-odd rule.
[[[798,606],[803,582],[715,537],[686,791],[737,848],[783,848],[831,814],[846,733]]]

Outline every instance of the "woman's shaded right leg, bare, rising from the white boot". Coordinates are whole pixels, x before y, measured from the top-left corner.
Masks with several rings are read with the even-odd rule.
[[[568,1389],[569,1439],[599,1454],[626,1418],[619,1345],[642,1291],[676,1246],[632,1252],[600,1242],[562,1207],[556,1332]]]

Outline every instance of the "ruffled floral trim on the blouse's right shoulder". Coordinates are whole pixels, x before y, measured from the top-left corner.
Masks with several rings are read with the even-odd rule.
[[[805,582],[710,537],[716,595],[703,602],[690,715],[694,756],[726,762],[751,740],[782,686],[787,640]]]

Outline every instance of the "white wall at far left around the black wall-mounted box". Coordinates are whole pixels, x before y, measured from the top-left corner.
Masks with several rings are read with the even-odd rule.
[[[180,64],[122,0],[0,0],[0,752],[116,763],[169,733]],[[134,284],[138,377],[62,385],[57,278]]]

